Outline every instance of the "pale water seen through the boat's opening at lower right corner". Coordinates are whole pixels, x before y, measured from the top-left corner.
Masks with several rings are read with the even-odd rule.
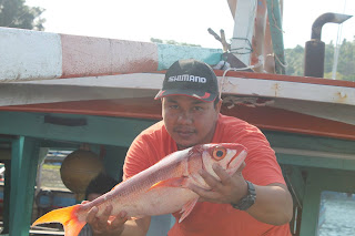
[[[355,236],[355,195],[328,192],[322,202],[325,217],[318,236]]]

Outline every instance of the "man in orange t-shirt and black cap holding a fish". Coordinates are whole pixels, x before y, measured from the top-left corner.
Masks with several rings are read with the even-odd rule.
[[[152,166],[168,154],[202,143],[240,143],[247,151],[245,164],[229,176],[214,166],[221,181],[201,176],[213,191],[192,187],[200,202],[185,220],[172,227],[175,235],[291,235],[292,197],[275,153],[261,131],[235,117],[220,114],[217,79],[205,63],[181,60],[166,71],[162,90],[163,121],[143,131],[125,158],[124,179]],[[92,208],[88,220],[101,235],[145,235],[150,217],[128,220],[124,212],[108,222],[112,206],[101,216]],[[179,218],[180,214],[174,213]],[[97,234],[100,235],[100,234]]]

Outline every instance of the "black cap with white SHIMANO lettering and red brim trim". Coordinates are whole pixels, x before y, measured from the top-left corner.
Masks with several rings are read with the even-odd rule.
[[[213,102],[219,95],[219,83],[212,68],[194,59],[174,62],[166,71],[163,88],[155,100],[170,95],[187,95]]]

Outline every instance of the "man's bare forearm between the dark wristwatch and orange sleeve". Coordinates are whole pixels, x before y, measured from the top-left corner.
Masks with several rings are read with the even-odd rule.
[[[283,225],[292,219],[292,196],[282,184],[255,185],[256,201],[246,212],[260,222]]]

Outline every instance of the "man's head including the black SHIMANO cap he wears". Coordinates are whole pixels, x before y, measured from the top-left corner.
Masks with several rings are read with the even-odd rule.
[[[166,71],[162,90],[162,115],[166,131],[180,150],[211,143],[222,101],[210,65],[181,60]]]

